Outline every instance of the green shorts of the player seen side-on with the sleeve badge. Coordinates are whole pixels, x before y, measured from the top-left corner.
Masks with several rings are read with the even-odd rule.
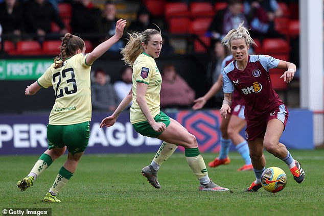
[[[168,127],[171,122],[170,117],[162,111],[160,111],[160,113],[154,117],[154,120],[155,122],[163,122],[164,124],[166,124],[166,127]],[[135,131],[142,134],[143,136],[158,137],[163,132],[154,131],[148,121],[139,122],[132,125],[134,126]]]

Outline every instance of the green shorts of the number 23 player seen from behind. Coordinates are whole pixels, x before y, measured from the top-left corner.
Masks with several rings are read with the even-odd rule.
[[[48,125],[47,139],[49,149],[67,147],[72,155],[84,152],[90,137],[90,123],[74,125]]]

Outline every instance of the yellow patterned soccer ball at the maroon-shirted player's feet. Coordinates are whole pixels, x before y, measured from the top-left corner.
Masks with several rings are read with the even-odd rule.
[[[277,193],[284,189],[287,184],[286,173],[279,167],[271,166],[262,173],[261,184],[265,190]]]

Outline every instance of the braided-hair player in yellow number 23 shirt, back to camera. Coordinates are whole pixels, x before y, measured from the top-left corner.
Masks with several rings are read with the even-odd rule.
[[[73,176],[90,137],[91,65],[122,37],[125,26],[126,20],[118,20],[115,34],[89,54],[84,54],[86,47],[80,37],[65,34],[54,63],[36,82],[27,86],[26,95],[53,86],[56,99],[47,130],[49,149],[40,156],[29,175],[18,181],[17,187],[22,191],[32,186],[36,178],[67,149],[67,160],[43,199],[44,202],[61,202],[56,195]]]

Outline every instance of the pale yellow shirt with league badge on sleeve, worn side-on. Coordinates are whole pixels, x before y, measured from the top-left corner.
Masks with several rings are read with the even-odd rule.
[[[155,60],[142,53],[133,64],[133,103],[130,108],[130,122],[132,124],[147,121],[140,106],[136,102],[136,84],[142,82],[148,85],[145,99],[153,117],[160,113],[160,90],[162,77]]]

